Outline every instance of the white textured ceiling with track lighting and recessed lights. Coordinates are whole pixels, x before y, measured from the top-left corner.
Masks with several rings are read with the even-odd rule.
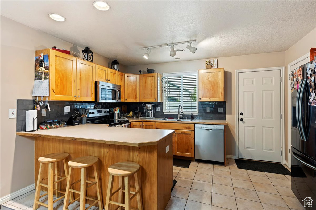
[[[316,1],[105,0],[107,12],[93,2],[1,0],[0,14],[127,66],[285,51],[316,27]],[[195,54],[184,44],[143,58],[143,47],[194,39]]]

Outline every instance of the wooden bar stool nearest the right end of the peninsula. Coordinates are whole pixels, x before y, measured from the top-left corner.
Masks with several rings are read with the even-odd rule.
[[[108,172],[110,173],[109,178],[109,185],[107,187],[107,194],[106,194],[106,203],[105,203],[105,210],[109,209],[109,204],[114,204],[119,206],[119,210],[122,207],[125,207],[125,210],[131,209],[131,199],[137,196],[137,205],[138,210],[143,210],[143,203],[142,203],[142,194],[139,189],[138,178],[137,178],[137,171],[139,170],[139,165],[135,162],[118,162],[111,165],[108,168]],[[134,174],[135,178],[135,186],[136,192],[130,191],[130,183],[129,183],[129,176]],[[119,188],[112,192],[113,188],[113,176],[119,176]],[[124,185],[125,189],[123,189],[123,178],[124,178]],[[111,197],[119,192],[119,202],[111,201]],[[125,204],[122,203],[122,192],[125,192]],[[130,197],[130,193],[133,194]]]

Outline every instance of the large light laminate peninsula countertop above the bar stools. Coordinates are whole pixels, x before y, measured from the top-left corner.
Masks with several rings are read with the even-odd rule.
[[[108,127],[104,124],[84,124],[34,132],[16,132],[20,136],[69,139],[127,146],[157,145],[172,133],[174,133],[174,130],[119,128]]]

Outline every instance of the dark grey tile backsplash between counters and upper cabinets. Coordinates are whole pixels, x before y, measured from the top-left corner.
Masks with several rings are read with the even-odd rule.
[[[27,110],[31,110],[33,108],[34,100],[31,99],[17,99],[17,116],[16,116],[16,131],[25,131],[25,121],[26,115],[25,112]],[[45,101],[44,101],[45,104]],[[135,111],[137,107],[141,112],[144,111],[145,104],[155,104],[156,107],[160,107],[160,111],[155,111],[155,117],[164,118],[164,117],[174,117],[177,118],[178,115],[171,114],[163,114],[163,103],[83,103],[83,102],[73,102],[73,101],[49,101],[49,105],[51,111],[46,112],[46,116],[42,116],[41,110],[38,111],[37,114],[37,122],[44,122],[46,120],[68,120],[71,116],[71,113],[75,108],[94,108],[98,109],[107,109],[112,107],[122,107],[122,105],[127,106],[127,112]],[[67,115],[64,114],[64,107],[70,106],[70,112]],[[210,112],[206,112],[206,108],[210,108]],[[41,107],[41,109],[44,106]],[[223,112],[218,112],[218,108],[223,108]],[[184,115],[183,118],[190,118],[191,114]],[[143,115],[144,116],[144,115]],[[198,117],[199,119],[204,120],[226,120],[226,102],[199,102],[199,113],[198,115],[194,115],[194,117]]]

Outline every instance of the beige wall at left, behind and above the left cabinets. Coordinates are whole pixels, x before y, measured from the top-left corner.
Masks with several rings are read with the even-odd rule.
[[[0,16],[0,197],[34,183],[34,142],[16,136],[16,119],[9,109],[16,99],[32,99],[35,50],[82,48]],[[93,49],[92,49],[93,50]],[[108,66],[111,60],[93,54],[94,63]],[[125,66],[120,65],[125,72]]]

